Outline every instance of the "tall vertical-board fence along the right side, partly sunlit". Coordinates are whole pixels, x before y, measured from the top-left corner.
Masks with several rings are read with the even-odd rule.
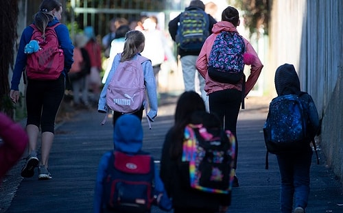
[[[342,8],[340,0],[273,1],[269,75],[273,78],[281,64],[294,64],[322,119],[319,139],[326,164],[343,182]],[[269,83],[272,90],[274,82]]]

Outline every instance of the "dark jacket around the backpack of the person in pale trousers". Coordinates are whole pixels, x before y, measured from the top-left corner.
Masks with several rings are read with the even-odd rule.
[[[195,7],[195,6],[189,6],[185,10],[199,10],[199,9],[200,8]],[[173,20],[169,21],[169,24],[168,24],[169,34],[174,41],[175,41],[176,33],[178,32],[178,23],[180,22],[180,15],[181,14],[178,14],[178,16],[176,16],[176,18],[174,18]],[[215,19],[210,14],[208,15],[209,15],[209,33],[211,34],[212,27],[215,23],[217,23],[217,21],[215,21]],[[180,48],[178,49],[178,55],[180,55],[180,57],[185,56],[185,55],[199,55],[199,53],[200,53],[200,50],[199,51],[185,51]]]

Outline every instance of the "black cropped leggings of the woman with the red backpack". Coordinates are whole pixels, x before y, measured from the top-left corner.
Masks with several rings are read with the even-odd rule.
[[[56,80],[27,81],[26,125],[36,125],[42,132],[55,132],[55,118],[63,99],[64,86],[62,74]]]

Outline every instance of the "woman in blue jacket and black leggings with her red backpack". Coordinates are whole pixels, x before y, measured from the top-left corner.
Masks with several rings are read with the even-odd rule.
[[[29,136],[29,154],[21,176],[34,176],[34,168],[39,164],[38,179],[51,179],[48,161],[54,141],[55,118],[64,95],[65,77],[73,64],[74,47],[69,38],[67,26],[60,24],[59,21],[62,15],[62,3],[58,0],[44,0],[40,3],[39,8],[39,12],[34,16],[34,25],[27,26],[21,35],[12,76],[10,98],[14,103],[19,101],[19,83],[26,66],[26,131]],[[33,34],[39,34],[39,36],[34,37]],[[52,34],[57,35],[57,39]],[[42,38],[43,42],[36,41],[36,39],[42,40]],[[49,48],[51,48],[51,45],[56,45],[56,49],[51,51],[52,53],[45,52],[43,47],[50,46]],[[47,54],[39,55],[42,52]],[[51,56],[56,52],[59,54],[58,60]],[[39,57],[37,57],[38,55]],[[35,57],[36,60],[32,60]],[[42,58],[45,58],[46,62],[42,63]],[[53,66],[57,66],[56,69],[49,68],[51,61]],[[34,72],[44,66],[46,67],[44,73]],[[39,131],[42,132],[40,162],[37,157]]]

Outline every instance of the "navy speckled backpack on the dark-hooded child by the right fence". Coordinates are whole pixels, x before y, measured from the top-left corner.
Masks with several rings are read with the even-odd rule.
[[[294,153],[303,150],[311,138],[307,134],[308,115],[299,95],[272,99],[263,128],[265,145],[270,153]]]

